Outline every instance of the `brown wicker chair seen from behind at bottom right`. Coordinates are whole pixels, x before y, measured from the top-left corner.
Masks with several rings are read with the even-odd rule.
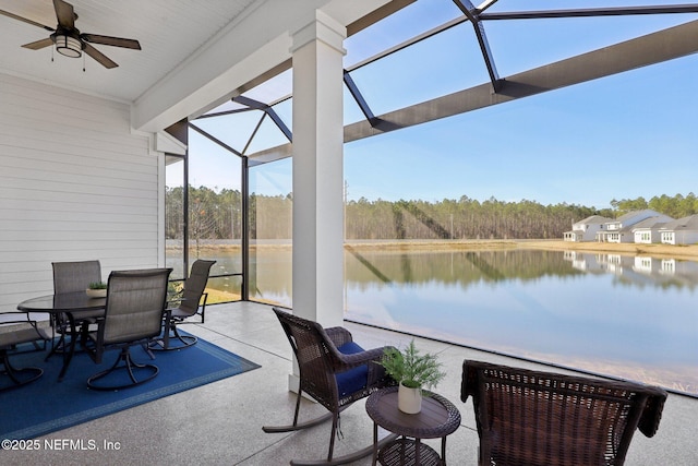
[[[629,382],[464,362],[479,465],[622,465],[637,428],[652,437],[666,392]]]

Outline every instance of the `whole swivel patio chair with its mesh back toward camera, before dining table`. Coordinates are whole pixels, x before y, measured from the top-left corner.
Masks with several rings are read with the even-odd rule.
[[[109,349],[120,349],[121,353],[110,369],[87,379],[87,386],[93,390],[127,389],[157,375],[157,366],[137,363],[132,359],[131,347],[142,345],[151,359],[155,359],[147,344],[160,334],[170,272],[171,268],[151,268],[112,272],[109,275],[105,315],[97,320],[97,331],[88,335],[92,344],[87,346],[87,353],[96,363],[101,363],[104,354]],[[117,370],[125,370],[130,381],[106,385],[98,383]]]

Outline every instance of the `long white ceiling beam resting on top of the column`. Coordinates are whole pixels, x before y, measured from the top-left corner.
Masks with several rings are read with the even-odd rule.
[[[132,126],[142,131],[160,131],[287,70],[291,65],[292,35],[314,21],[316,10],[352,33],[413,1],[258,2],[139,98],[132,109]]]

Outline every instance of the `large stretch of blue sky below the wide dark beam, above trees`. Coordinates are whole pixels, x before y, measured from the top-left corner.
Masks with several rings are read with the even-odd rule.
[[[603,208],[614,198],[696,192],[697,58],[350,143],[350,199]]]

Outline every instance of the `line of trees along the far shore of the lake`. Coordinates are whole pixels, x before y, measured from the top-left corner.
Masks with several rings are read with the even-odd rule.
[[[253,239],[288,239],[292,231],[292,194],[250,196],[250,229]],[[591,215],[617,218],[651,208],[673,218],[698,213],[698,199],[662,194],[612,200],[611,207],[597,210],[577,204],[543,205],[535,201],[478,201],[466,195],[437,202],[369,201],[345,204],[347,240],[382,239],[559,239],[571,225]],[[166,235],[183,237],[183,189],[166,190]],[[216,192],[206,187],[189,189],[191,240],[239,239],[242,236],[242,195],[238,190]]]

